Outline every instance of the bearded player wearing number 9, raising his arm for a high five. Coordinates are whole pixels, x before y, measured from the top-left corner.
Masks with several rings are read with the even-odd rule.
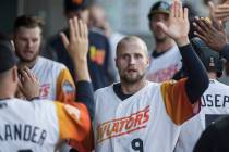
[[[190,45],[188,10],[174,1],[169,24],[159,27],[178,43],[189,63],[189,78],[162,84],[145,79],[147,47],[140,38],[123,38],[116,64],[121,83],[95,92],[95,151],[172,152],[180,125],[198,113],[198,99],[208,87],[207,74]]]

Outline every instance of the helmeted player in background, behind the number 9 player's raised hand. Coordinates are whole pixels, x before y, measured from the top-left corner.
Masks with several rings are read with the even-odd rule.
[[[152,52],[146,78],[150,81],[171,79],[182,66],[180,51],[174,40],[167,36],[158,26],[158,22],[166,25],[169,22],[170,4],[166,1],[156,2],[148,14],[149,28],[154,34],[156,48]]]

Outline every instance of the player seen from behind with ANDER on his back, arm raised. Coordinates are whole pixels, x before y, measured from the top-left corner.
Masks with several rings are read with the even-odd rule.
[[[70,20],[70,40],[61,34],[75,65],[77,100],[63,104],[48,100],[27,102],[14,98],[17,68],[12,46],[0,40],[0,151],[51,152],[70,139],[79,151],[89,151],[92,140],[88,105],[93,107],[93,89],[87,69],[87,27],[77,18]],[[85,106],[86,105],[86,106]]]

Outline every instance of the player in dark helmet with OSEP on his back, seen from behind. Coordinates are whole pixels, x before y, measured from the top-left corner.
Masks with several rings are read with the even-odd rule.
[[[216,79],[222,74],[219,53],[210,50],[200,38],[193,38],[192,45],[207,69],[209,87],[202,97],[201,112],[182,125],[176,152],[192,152],[203,130],[216,118],[229,114],[229,86]]]

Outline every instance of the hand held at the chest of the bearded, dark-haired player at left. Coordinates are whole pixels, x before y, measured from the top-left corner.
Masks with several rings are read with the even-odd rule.
[[[21,74],[19,89],[23,96],[27,100],[39,97],[39,81],[35,75],[26,66],[21,69]]]

